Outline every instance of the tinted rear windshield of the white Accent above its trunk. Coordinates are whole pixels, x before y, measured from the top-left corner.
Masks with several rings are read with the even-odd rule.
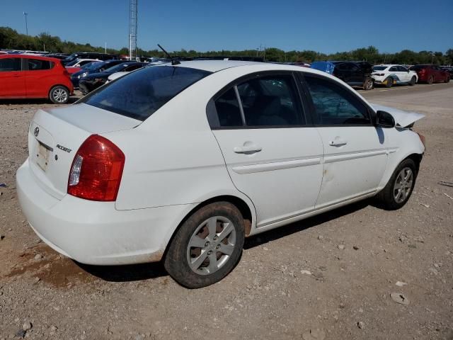
[[[130,118],[145,120],[161,106],[211,72],[154,66],[132,72],[79,101]]]

